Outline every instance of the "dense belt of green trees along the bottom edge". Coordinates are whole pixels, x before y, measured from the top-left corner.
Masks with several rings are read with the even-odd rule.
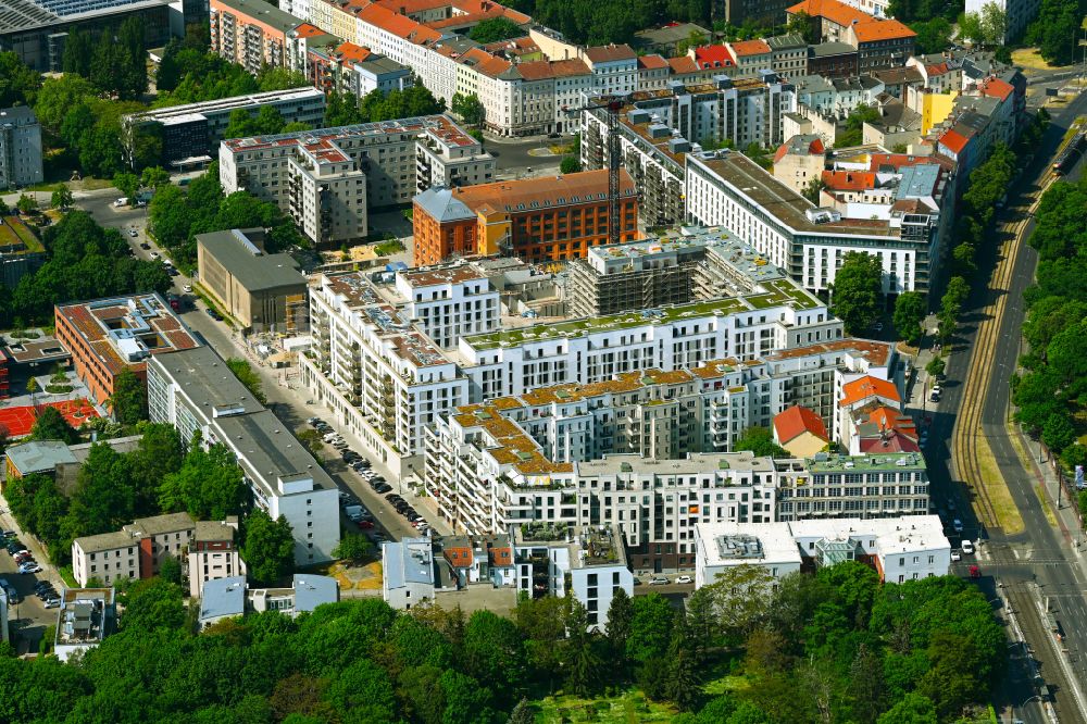
[[[774,585],[738,566],[685,612],[619,594],[607,634],[575,601],[510,617],[375,598],[291,620],[250,614],[192,633],[180,589],[122,587],[120,631],[62,664],[0,653],[0,717],[52,722],[533,722],[532,699],[636,683],[677,724],[970,721],[1004,664],[985,596],[960,578],[880,585],[847,562]],[[707,675],[725,694],[707,694]]]

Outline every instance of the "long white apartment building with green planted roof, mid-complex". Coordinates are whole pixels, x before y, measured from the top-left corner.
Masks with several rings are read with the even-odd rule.
[[[741,249],[737,258],[744,261]],[[728,278],[705,301],[462,337],[455,359],[471,380],[471,401],[549,385],[607,382],[640,370],[754,360],[841,338],[841,322],[826,304],[765,260],[724,267],[721,274]]]

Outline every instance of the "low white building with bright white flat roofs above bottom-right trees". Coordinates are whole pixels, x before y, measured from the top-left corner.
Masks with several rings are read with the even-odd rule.
[[[696,526],[695,541],[696,588],[737,565],[782,578],[802,567],[859,561],[886,583],[946,576],[951,567],[951,542],[938,515],[707,523]]]

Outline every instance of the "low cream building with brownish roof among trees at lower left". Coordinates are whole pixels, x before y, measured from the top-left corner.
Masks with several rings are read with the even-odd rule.
[[[182,562],[196,523],[188,513],[140,517],[114,533],[72,541],[72,576],[80,586],[91,578],[105,585],[150,578],[166,556]]]

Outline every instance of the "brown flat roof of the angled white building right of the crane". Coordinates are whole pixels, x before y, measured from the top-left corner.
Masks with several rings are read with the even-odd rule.
[[[817,207],[798,194],[791,186],[774,178],[751,159],[735,151],[709,151],[691,155],[713,174],[724,180],[734,194],[760,207],[797,234],[822,236],[848,234],[870,237],[897,237],[898,232],[887,222],[841,219],[816,224],[808,212]]]

